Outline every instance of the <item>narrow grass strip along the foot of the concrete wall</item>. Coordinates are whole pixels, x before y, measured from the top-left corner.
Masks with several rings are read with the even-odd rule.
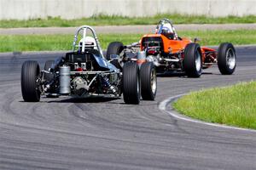
[[[168,18],[175,24],[224,24],[224,23],[255,23],[256,15],[242,17],[207,17],[205,15],[156,14],[151,17],[125,17],[99,14],[90,18],[63,20],[60,17],[33,20],[0,20],[0,27],[51,27],[51,26],[124,26],[124,25],[155,25],[160,19]]]

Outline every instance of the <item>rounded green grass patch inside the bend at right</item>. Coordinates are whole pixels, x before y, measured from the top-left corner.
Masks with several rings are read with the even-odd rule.
[[[177,111],[206,122],[256,129],[256,82],[212,88],[183,96]]]

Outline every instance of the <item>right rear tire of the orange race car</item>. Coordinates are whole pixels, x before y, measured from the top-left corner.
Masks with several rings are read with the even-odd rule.
[[[184,49],[183,70],[188,77],[201,77],[202,57],[198,43],[189,43]]]

